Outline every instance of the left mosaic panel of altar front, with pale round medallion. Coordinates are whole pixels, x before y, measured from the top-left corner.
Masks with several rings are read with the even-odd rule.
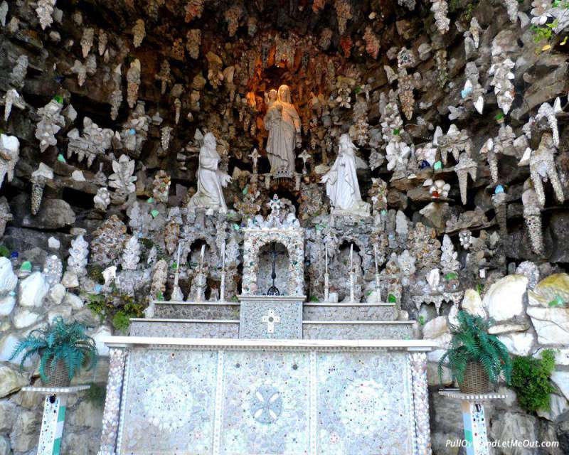
[[[119,454],[211,454],[217,352],[132,350]]]

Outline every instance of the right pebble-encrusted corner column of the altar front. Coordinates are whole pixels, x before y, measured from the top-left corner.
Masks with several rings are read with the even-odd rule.
[[[415,410],[415,455],[430,455],[429,390],[427,387],[427,354],[411,353],[413,408]]]

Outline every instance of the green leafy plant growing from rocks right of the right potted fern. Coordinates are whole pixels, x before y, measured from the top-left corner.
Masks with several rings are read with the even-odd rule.
[[[555,369],[555,352],[543,350],[540,358],[514,358],[511,386],[516,390],[520,406],[526,412],[548,411],[551,403],[549,394],[555,392],[551,384],[551,373]]]

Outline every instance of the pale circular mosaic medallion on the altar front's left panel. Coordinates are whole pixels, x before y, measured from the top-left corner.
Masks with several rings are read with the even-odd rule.
[[[147,420],[161,430],[174,431],[188,423],[193,399],[187,384],[174,374],[153,380],[144,394]]]

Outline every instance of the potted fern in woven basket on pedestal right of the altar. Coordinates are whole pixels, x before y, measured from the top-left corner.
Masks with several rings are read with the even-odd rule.
[[[457,326],[450,325],[450,348],[439,361],[439,380],[442,382],[442,367],[447,366],[463,393],[488,392],[489,382],[498,382],[502,373],[509,383],[512,362],[508,349],[488,333],[494,320],[464,310],[458,312],[457,319]]]

